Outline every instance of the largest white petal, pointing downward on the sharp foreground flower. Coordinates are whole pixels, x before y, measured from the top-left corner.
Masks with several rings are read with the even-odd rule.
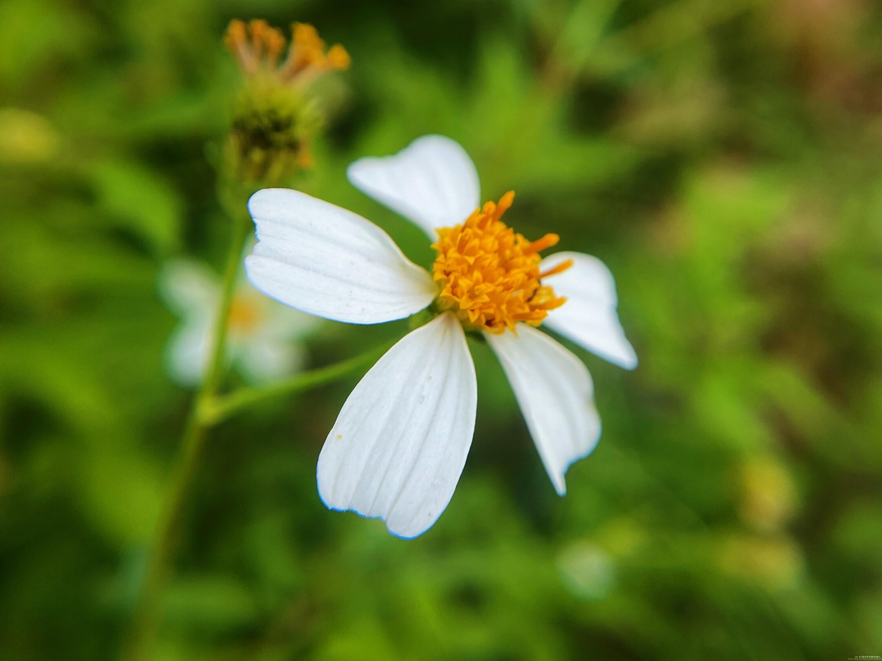
[[[343,405],[318,457],[331,509],[378,516],[402,538],[447,507],[475,432],[478,393],[466,336],[450,313],[392,347]]]

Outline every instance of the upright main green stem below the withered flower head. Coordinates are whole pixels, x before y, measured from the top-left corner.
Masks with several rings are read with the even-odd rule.
[[[145,661],[151,655],[150,646],[160,612],[160,599],[170,573],[170,561],[176,546],[177,531],[183,515],[183,504],[196,474],[198,459],[206,441],[206,425],[199,412],[212,401],[220,386],[225,367],[229,309],[235,290],[235,278],[245,239],[250,232],[250,219],[234,205],[227,204],[233,221],[227,264],[223,273],[221,301],[214,319],[211,360],[206,375],[191,404],[190,415],[184,427],[178,448],[175,468],[162,504],[161,515],[153,531],[147,567],[138,604],[132,620],[130,637],[123,659]]]

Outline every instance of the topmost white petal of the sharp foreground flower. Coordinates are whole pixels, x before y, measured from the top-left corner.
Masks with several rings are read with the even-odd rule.
[[[460,143],[423,136],[394,156],[356,160],[349,181],[407,219],[430,238],[437,227],[452,227],[481,204],[478,171]]]

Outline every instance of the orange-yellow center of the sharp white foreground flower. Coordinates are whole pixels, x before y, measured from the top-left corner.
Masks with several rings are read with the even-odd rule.
[[[566,271],[572,260],[539,271],[539,252],[555,245],[558,236],[527,241],[506,226],[501,218],[513,199],[509,191],[499,204],[484,204],[464,223],[439,229],[432,244],[438,253],[434,279],[441,287],[437,304],[470,330],[498,335],[506,328],[513,331],[517,322],[538,326],[549,310],[566,301],[542,285],[542,278]]]

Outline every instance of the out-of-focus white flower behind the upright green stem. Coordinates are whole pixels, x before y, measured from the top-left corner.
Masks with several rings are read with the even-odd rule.
[[[201,381],[210,358],[221,282],[206,266],[187,260],[166,264],[160,291],[181,323],[168,341],[166,367],[180,385]],[[321,320],[280,305],[239,279],[230,305],[228,360],[249,382],[265,382],[301,368],[305,349],[298,340]]]

